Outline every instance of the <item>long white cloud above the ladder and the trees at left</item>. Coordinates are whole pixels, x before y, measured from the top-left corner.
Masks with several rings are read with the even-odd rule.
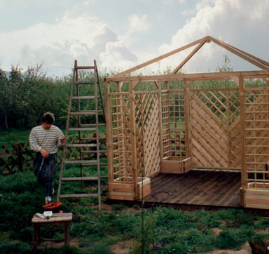
[[[132,22],[132,29],[137,31],[137,25],[139,22]],[[51,66],[71,69],[75,59],[78,65],[91,65],[93,59],[98,62],[102,52],[108,59],[113,55],[117,60],[130,59],[132,55],[124,46],[121,51],[116,47],[118,56],[109,49],[118,42],[118,36],[104,22],[86,14],[76,17],[70,12],[53,24],[39,23],[24,30],[2,32],[0,41],[1,48],[8,48],[1,53],[1,62],[19,63],[24,68],[43,63],[45,69]],[[1,65],[6,70],[10,67]]]

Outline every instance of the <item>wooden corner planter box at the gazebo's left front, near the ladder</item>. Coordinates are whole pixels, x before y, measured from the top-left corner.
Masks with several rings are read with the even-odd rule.
[[[141,200],[142,196],[148,196],[151,194],[151,179],[143,178],[143,195],[142,195],[142,178],[138,178],[139,182],[137,183],[139,188],[139,197],[135,199],[134,185],[130,183],[122,183],[117,180],[113,183],[109,183],[109,199],[117,200]]]

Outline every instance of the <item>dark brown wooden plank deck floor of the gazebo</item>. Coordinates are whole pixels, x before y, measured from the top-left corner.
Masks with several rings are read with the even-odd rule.
[[[189,171],[183,175],[160,174],[151,178],[146,203],[240,207],[241,174]]]

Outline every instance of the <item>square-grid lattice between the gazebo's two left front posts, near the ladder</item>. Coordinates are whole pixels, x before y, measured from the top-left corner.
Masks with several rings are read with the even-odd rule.
[[[129,182],[132,176],[130,101],[128,93],[111,94],[113,177]]]

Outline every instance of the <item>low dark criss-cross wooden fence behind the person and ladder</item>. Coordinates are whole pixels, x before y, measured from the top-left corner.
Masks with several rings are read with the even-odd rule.
[[[85,139],[85,137],[83,137]],[[96,140],[89,137],[90,143],[96,143]],[[78,137],[69,138],[68,143],[76,144]],[[100,157],[106,157],[106,138],[99,138]],[[90,149],[90,148],[85,148]],[[32,163],[34,159],[34,151],[30,149],[29,143],[18,143],[15,145],[2,145],[0,148],[0,175],[9,175],[16,172],[28,170],[32,168]],[[92,149],[92,153],[88,156],[95,156],[96,151]],[[67,157],[69,159],[78,159],[78,151],[76,147],[68,147]],[[62,160],[62,149],[58,152],[59,161]]]

